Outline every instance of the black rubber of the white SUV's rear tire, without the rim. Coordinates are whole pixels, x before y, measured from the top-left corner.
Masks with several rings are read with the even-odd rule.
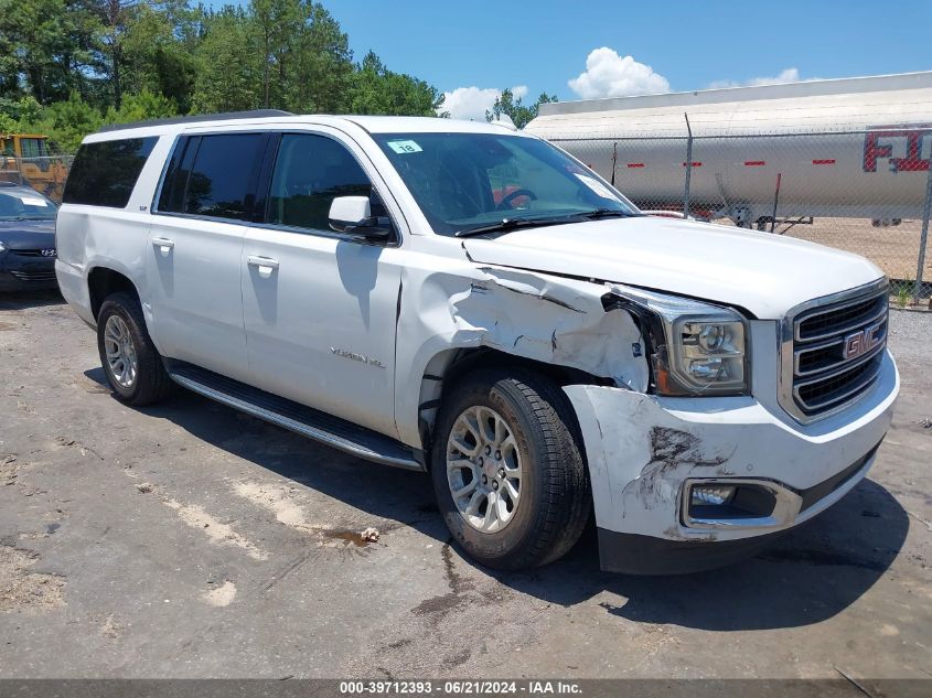
[[[136,352],[137,372],[129,385],[120,385],[107,361],[105,332],[107,321],[111,316],[117,316],[126,323]],[[162,357],[149,337],[139,301],[129,293],[113,293],[100,305],[100,312],[97,313],[97,351],[107,383],[114,391],[114,397],[120,402],[142,407],[158,402],[172,391],[174,383],[165,372]]]

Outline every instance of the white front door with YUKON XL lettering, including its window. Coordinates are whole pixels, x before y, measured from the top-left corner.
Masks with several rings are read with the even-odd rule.
[[[249,371],[266,390],[395,436],[401,250],[328,225],[335,196],[369,196],[386,213],[376,173],[324,127],[282,133],[268,169],[264,223],[243,246]]]

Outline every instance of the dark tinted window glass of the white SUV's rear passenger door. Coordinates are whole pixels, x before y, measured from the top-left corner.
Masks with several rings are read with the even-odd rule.
[[[193,141],[194,139],[192,139]],[[182,213],[243,221],[251,206],[266,137],[261,133],[203,136],[190,165]],[[184,163],[182,162],[182,165]]]

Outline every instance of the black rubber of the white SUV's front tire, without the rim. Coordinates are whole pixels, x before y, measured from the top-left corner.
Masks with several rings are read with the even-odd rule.
[[[448,440],[457,419],[472,407],[491,408],[504,418],[522,459],[514,514],[494,533],[467,522],[448,482]],[[572,548],[592,506],[578,431],[560,387],[524,367],[480,369],[449,388],[438,415],[431,475],[447,527],[473,559],[494,569],[518,570],[553,562]]]

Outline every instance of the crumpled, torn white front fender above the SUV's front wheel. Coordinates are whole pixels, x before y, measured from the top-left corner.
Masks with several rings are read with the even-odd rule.
[[[457,350],[490,347],[645,391],[650,369],[640,321],[621,307],[607,307],[609,293],[598,282],[491,265],[406,267],[401,305],[418,312],[401,312],[398,319],[396,421],[401,439],[419,443],[418,426],[409,417],[436,402],[440,390],[436,382],[425,387],[421,378],[442,374],[446,365],[438,357],[452,357]]]

